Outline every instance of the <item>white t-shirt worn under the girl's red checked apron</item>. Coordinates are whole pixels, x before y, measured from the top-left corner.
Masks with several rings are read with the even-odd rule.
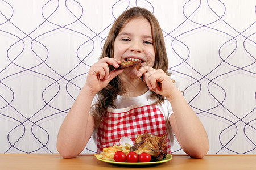
[[[150,90],[145,92],[143,95],[137,96],[137,97],[125,97],[125,96],[118,95],[117,99],[114,102],[116,108],[109,107],[108,111],[117,112],[117,110],[118,110],[119,112],[122,112],[122,111],[127,111],[131,108],[138,107],[140,105],[152,104],[155,102],[155,100],[152,100],[150,95],[151,95]],[[96,95],[96,97],[94,97],[92,104],[94,104],[97,101],[97,99],[98,99],[98,96]],[[156,107],[158,107],[164,115],[169,141],[171,142],[171,146],[172,146],[174,143],[174,133],[171,129],[171,124],[169,121],[169,118],[170,118],[171,114],[173,113],[171,103],[168,100],[164,100],[161,104],[157,104]],[[97,132],[98,132],[98,129],[96,128],[96,129],[94,129],[93,135],[92,135],[95,143],[97,143],[96,142]]]

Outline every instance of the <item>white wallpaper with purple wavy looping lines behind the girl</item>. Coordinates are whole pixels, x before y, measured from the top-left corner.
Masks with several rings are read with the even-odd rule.
[[[61,122],[110,27],[133,6],[158,18],[209,153],[256,153],[254,0],[0,0],[0,152],[57,152]],[[84,153],[95,151],[90,139]],[[183,153],[176,141],[172,152]]]

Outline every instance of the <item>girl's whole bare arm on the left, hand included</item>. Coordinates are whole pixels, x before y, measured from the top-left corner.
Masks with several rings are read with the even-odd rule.
[[[94,96],[123,70],[109,72],[108,65],[117,68],[120,62],[105,57],[94,64],[87,75],[85,86],[82,87],[75,103],[72,105],[57,137],[57,150],[64,158],[73,158],[85,148],[95,128],[95,121],[90,114]]]

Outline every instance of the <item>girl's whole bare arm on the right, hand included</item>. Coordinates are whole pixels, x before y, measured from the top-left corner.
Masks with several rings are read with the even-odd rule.
[[[150,90],[170,101],[174,111],[170,116],[170,124],[181,148],[193,158],[202,158],[209,151],[207,133],[181,92],[163,70],[146,66],[139,70],[138,76],[142,74]]]

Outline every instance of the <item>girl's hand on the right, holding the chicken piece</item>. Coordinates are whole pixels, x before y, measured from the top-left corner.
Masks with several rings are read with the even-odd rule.
[[[161,69],[153,69],[152,67],[144,66],[139,70],[138,77],[144,74],[143,81],[146,82],[148,88],[157,94],[165,97],[171,97],[174,83],[171,78]]]

